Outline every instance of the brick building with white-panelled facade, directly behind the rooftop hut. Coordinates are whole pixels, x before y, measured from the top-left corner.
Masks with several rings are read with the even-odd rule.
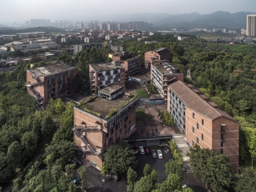
[[[125,69],[119,63],[107,62],[90,64],[91,92],[98,93],[99,89],[113,83],[125,85]]]

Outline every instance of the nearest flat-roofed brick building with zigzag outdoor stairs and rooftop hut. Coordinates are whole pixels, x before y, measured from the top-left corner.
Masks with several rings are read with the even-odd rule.
[[[99,96],[88,99],[86,107],[74,107],[74,142],[93,166],[101,168],[107,147],[136,130],[139,103],[140,97],[125,94],[124,85],[111,84],[101,89]]]

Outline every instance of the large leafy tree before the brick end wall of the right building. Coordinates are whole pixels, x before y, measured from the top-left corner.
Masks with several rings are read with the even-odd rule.
[[[212,191],[224,191],[224,187],[232,184],[234,172],[228,156],[209,149],[200,149],[199,145],[190,148],[188,155],[193,174]]]

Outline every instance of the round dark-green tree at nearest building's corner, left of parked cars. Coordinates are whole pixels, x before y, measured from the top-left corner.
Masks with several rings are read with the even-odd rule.
[[[137,163],[134,150],[126,141],[121,141],[117,145],[110,145],[103,155],[106,168],[112,173],[122,174],[129,167],[134,167]]]

